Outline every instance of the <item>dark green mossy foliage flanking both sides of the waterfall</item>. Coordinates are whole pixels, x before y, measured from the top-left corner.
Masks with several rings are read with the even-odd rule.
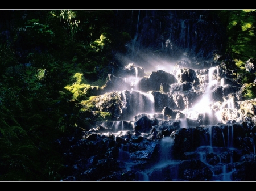
[[[116,12],[0,11],[0,181],[57,181],[68,172],[57,139],[82,130],[81,105],[94,95],[85,88],[105,84],[118,67],[114,52],[125,52],[133,36],[122,23],[129,11],[120,18]],[[228,33],[226,53],[238,75],[245,73],[245,62],[256,59],[256,12],[216,13]],[[250,75],[242,82],[252,83]],[[246,96],[254,96],[254,86],[247,89]]]

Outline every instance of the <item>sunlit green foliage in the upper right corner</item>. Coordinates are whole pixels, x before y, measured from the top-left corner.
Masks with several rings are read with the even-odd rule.
[[[219,16],[226,25],[228,35],[226,52],[232,54],[237,66],[243,69],[244,63],[249,58],[256,58],[254,51],[256,12],[255,10],[222,10]]]

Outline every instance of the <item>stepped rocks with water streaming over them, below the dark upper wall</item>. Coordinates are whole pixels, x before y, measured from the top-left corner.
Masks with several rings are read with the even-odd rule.
[[[70,167],[62,181],[256,180],[256,99],[243,100],[224,68],[135,69],[109,74],[105,94],[88,101],[91,116],[109,112],[112,120],[56,143]]]

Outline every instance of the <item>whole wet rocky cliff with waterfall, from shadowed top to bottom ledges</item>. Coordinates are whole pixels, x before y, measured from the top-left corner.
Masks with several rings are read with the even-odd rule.
[[[255,83],[221,54],[221,24],[197,10],[133,17],[126,64],[82,102],[82,130],[57,143],[63,181],[255,181]]]

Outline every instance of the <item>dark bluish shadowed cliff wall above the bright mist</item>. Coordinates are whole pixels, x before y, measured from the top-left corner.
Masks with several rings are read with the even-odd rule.
[[[146,67],[152,60],[180,59],[184,55],[193,63],[212,60],[213,51],[224,50],[226,40],[224,27],[212,13],[205,10],[134,11],[133,40],[127,44],[127,60],[121,62]]]

